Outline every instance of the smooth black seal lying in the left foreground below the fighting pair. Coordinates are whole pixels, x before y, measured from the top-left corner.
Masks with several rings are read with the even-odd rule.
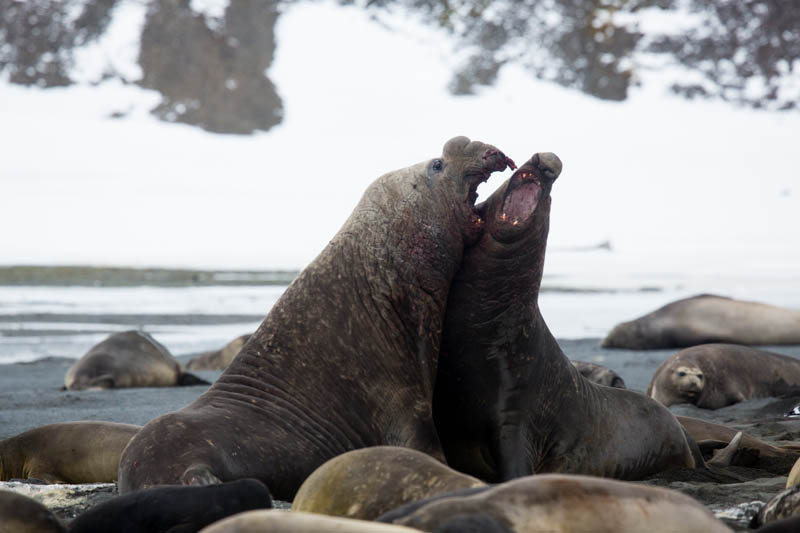
[[[99,503],[73,520],[69,532],[198,531],[237,513],[271,508],[272,496],[257,479],[202,487],[164,485]]]

